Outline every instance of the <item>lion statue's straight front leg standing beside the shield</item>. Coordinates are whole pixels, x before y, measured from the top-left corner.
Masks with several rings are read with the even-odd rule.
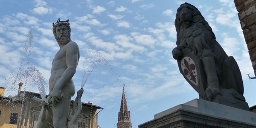
[[[214,61],[214,54],[212,53],[212,51],[204,49],[202,57],[204,71],[207,76],[207,90],[205,92],[207,99],[212,101],[212,99],[214,99],[220,92],[219,81]]]

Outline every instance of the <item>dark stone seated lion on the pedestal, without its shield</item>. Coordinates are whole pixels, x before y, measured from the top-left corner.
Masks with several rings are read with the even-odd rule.
[[[193,54],[201,61],[203,75],[207,83],[200,98],[212,101],[217,95],[229,96],[245,102],[243,81],[239,67],[233,56],[228,56],[216,41],[211,27],[198,11],[183,3],[177,9],[175,27],[177,47],[172,50],[173,58],[182,59],[185,54]]]

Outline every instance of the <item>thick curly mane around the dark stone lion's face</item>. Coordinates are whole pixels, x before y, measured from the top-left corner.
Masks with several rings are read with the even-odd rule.
[[[188,9],[189,11],[185,12],[186,15],[190,15],[189,28],[182,26],[182,21],[180,19],[181,15],[184,15],[182,9]],[[189,4],[183,3],[177,9],[175,27],[177,32],[177,46],[182,48],[188,48],[191,52],[194,52],[195,55],[199,55],[204,49],[212,50],[214,44],[217,42],[212,28],[209,26],[207,21],[198,11],[198,9]],[[197,40],[195,41],[195,38]],[[199,53],[199,54],[198,54]],[[199,55],[200,56],[200,55]]]

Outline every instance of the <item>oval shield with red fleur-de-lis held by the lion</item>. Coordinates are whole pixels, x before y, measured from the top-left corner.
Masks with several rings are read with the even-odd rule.
[[[189,84],[199,93],[200,98],[204,96],[207,82],[202,62],[194,55],[183,55],[182,59],[177,60],[180,73]]]

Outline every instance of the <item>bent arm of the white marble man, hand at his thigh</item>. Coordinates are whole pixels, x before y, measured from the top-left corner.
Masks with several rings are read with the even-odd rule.
[[[72,79],[72,77],[76,73],[76,67],[79,61],[79,47],[76,42],[69,42],[66,47],[66,64],[67,69],[61,75],[61,78],[56,82],[50,96],[52,96],[51,102],[52,105],[55,106],[54,101],[59,102],[61,98],[61,89],[64,85],[67,84],[68,81]]]

